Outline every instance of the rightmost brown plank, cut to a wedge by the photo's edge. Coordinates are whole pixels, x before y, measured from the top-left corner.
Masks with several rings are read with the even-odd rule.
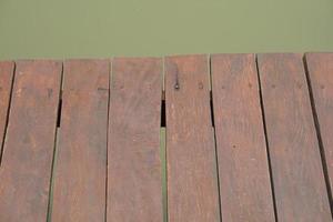
[[[333,53],[307,53],[307,74],[324,151],[329,189],[333,185]],[[331,203],[333,202],[332,196]]]

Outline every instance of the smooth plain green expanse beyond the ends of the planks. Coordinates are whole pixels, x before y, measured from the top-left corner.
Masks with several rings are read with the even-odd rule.
[[[0,59],[333,51],[332,0],[0,0]]]

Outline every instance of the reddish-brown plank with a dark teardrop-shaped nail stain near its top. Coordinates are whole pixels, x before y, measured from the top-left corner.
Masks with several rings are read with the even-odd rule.
[[[206,56],[165,58],[168,214],[220,221]]]

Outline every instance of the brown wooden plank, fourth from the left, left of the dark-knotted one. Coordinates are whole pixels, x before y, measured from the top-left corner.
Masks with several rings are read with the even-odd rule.
[[[163,221],[161,59],[114,59],[110,92],[108,221]]]

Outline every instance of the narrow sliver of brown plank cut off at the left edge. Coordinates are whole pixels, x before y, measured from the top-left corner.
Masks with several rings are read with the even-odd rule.
[[[0,164],[13,79],[13,62],[0,62]]]

